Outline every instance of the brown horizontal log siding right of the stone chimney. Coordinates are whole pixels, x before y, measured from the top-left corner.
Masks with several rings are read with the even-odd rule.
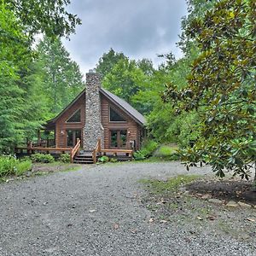
[[[109,107],[115,109],[120,113],[127,121],[126,122],[110,122],[109,121]],[[140,142],[138,141],[138,129],[137,123],[131,119],[123,110],[113,105],[107,97],[102,96],[102,126],[104,128],[104,148],[110,148],[110,130],[124,129],[128,131],[128,141],[136,141],[138,149]]]

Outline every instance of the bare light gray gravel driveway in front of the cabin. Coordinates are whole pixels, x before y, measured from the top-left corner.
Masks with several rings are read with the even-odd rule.
[[[125,163],[1,183],[0,255],[256,255],[252,244],[203,226],[192,236],[191,223],[148,222],[137,181],[181,173],[177,162]]]

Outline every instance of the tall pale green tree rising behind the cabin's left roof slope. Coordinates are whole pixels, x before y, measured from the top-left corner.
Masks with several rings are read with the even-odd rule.
[[[44,84],[44,96],[48,99],[52,115],[59,113],[84,89],[79,66],[69,57],[60,38],[52,41],[44,37],[38,44],[38,65]]]

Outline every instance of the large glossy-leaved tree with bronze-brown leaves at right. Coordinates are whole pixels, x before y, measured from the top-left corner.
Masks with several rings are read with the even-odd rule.
[[[225,171],[250,175],[256,160],[255,16],[255,1],[222,0],[189,23],[187,36],[200,55],[187,86],[169,84],[164,95],[177,113],[200,114],[200,137],[181,151],[188,167],[205,162],[220,177]]]

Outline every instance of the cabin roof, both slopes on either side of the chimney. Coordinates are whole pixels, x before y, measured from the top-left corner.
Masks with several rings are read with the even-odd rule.
[[[119,108],[121,108],[125,113],[127,113],[131,119],[134,119],[137,124],[139,125],[145,125],[146,124],[146,119],[145,117],[143,116],[143,114],[139,113],[137,111],[137,109],[131,107],[131,105],[128,103],[128,102],[125,102],[123,99],[119,98],[119,96],[116,96],[114,95],[113,93],[111,93],[110,91],[106,90],[106,89],[103,89],[103,88],[100,88],[100,93],[103,95],[103,96],[106,96],[108,98],[108,100],[110,102],[112,102],[114,105],[118,106]],[[77,102],[79,100],[79,98],[81,96],[83,96],[85,94],[85,89],[79,94],[79,96],[77,96],[73,102],[70,102],[69,105],[67,105],[66,108],[64,108],[61,113],[59,113],[58,115],[55,116],[54,119],[50,119],[48,122],[47,122],[47,125],[46,126],[50,126],[50,125],[53,125],[55,123],[55,121],[57,119],[59,119],[59,117],[61,117],[61,115],[70,107],[73,106],[73,104],[75,102]]]

